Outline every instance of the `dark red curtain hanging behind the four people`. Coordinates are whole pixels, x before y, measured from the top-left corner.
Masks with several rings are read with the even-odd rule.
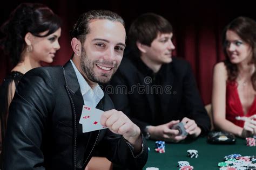
[[[211,102],[213,66],[224,60],[221,48],[224,26],[238,16],[256,18],[253,1],[2,1],[1,25],[21,2],[46,4],[62,18],[61,48],[51,65],[63,65],[70,59],[72,49],[69,30],[78,16],[85,11],[107,9],[117,12],[124,18],[126,29],[129,29],[134,18],[145,12],[154,12],[165,17],[174,28],[174,54],[191,63],[205,104]],[[2,34],[0,36],[3,37]],[[9,59],[1,51],[0,82],[11,68]]]

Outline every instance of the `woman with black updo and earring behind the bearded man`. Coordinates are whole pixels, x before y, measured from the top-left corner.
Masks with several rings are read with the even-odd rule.
[[[1,46],[14,68],[4,79],[0,91],[2,140],[6,129],[8,108],[21,77],[41,61],[51,63],[60,48],[60,19],[48,6],[22,3],[2,25],[5,38]]]

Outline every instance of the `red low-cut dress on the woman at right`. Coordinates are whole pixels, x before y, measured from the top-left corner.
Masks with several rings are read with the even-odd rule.
[[[244,127],[244,121],[238,121],[235,119],[237,116],[246,116],[250,117],[256,114],[256,100],[254,97],[254,101],[252,102],[251,107],[248,112],[244,114],[242,110],[242,104],[238,95],[237,86],[238,83],[236,81],[227,81],[226,85],[226,119],[230,122],[233,122],[235,125]]]

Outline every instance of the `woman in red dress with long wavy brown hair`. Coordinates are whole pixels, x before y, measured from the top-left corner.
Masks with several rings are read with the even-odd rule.
[[[215,128],[245,138],[256,134],[256,22],[238,17],[225,27],[226,60],[214,66]]]

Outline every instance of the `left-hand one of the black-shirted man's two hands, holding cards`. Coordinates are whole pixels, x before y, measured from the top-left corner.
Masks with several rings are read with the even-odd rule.
[[[152,139],[178,143],[186,138],[186,136],[178,136],[178,130],[171,129],[173,125],[178,123],[179,121],[171,121],[163,125],[149,126],[148,131]]]

